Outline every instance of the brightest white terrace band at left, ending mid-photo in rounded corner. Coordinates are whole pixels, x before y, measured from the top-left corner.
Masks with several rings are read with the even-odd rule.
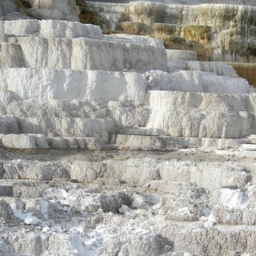
[[[2,90],[23,99],[63,99],[98,102],[134,102],[141,105],[146,78],[135,72],[95,70],[1,69]]]

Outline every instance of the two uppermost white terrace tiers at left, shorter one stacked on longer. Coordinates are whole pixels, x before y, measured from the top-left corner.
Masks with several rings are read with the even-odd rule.
[[[166,51],[157,40],[118,42],[99,26],[79,22],[0,22],[0,66],[71,70],[167,70]],[[154,43],[155,42],[155,43]]]

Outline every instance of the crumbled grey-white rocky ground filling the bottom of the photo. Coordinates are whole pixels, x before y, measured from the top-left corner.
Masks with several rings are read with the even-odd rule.
[[[235,153],[2,150],[1,253],[254,255],[256,155]]]

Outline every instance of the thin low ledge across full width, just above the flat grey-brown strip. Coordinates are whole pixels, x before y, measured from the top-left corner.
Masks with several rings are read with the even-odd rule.
[[[186,149],[236,149],[250,150],[250,138],[193,138],[152,136],[140,133],[136,129],[126,128],[118,131],[115,144],[102,144],[96,138],[82,137],[46,137],[43,134],[0,134],[0,146],[7,150],[143,150],[143,151],[177,151]],[[120,134],[124,133],[124,134]],[[248,143],[248,144],[245,144]],[[244,145],[244,147],[242,147]],[[247,145],[247,147],[245,147]],[[253,145],[254,146],[254,145]],[[254,149],[252,149],[254,150]]]

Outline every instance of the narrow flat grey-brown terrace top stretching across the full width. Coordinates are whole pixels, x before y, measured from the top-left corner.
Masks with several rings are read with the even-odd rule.
[[[223,151],[224,153],[224,151]],[[5,150],[0,147],[0,160],[22,161],[35,160],[38,162],[70,160],[101,161],[103,159],[124,160],[128,158],[154,158],[159,161],[193,161],[193,162],[251,162],[254,157],[241,157],[230,154],[215,154],[214,152],[202,152],[199,150],[178,150],[171,152],[161,151],[130,151],[130,150]]]

